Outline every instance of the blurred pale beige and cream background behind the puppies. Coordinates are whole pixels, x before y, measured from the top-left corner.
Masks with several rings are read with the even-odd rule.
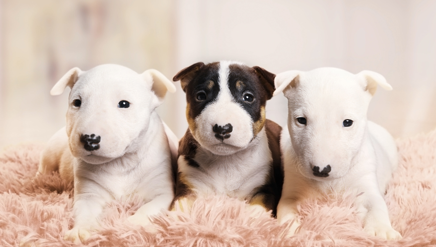
[[[0,149],[46,142],[65,125],[69,90],[49,91],[72,67],[116,63],[172,78],[224,59],[273,73],[373,70],[394,90],[378,90],[369,119],[395,137],[436,127],[436,0],[2,0]],[[181,137],[185,98],[175,84],[158,111]],[[286,104],[273,98],[267,117],[285,125]]]

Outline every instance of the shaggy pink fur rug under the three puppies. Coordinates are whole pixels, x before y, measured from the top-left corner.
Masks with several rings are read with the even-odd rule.
[[[126,218],[139,208],[138,198],[108,205],[101,229],[86,246],[433,246],[436,245],[436,130],[398,140],[400,163],[386,202],[393,227],[403,239],[386,241],[362,231],[353,199],[331,195],[301,205],[302,230],[284,238],[287,226],[244,202],[209,197],[189,213],[162,213],[155,231],[134,226]],[[73,225],[72,185],[58,173],[33,179],[41,145],[10,147],[0,155],[0,245],[74,246],[63,240]]]

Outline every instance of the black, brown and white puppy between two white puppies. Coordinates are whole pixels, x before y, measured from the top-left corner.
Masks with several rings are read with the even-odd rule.
[[[174,76],[186,93],[189,128],[179,142],[173,203],[224,194],[275,213],[281,127],[265,118],[274,76],[230,61],[196,63]]]

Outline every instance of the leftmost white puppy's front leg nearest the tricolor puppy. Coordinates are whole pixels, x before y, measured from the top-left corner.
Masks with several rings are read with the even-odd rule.
[[[133,224],[147,225],[150,223],[150,216],[158,214],[162,209],[167,210],[173,199],[173,194],[160,194],[151,201],[142,205],[133,215],[127,218]]]

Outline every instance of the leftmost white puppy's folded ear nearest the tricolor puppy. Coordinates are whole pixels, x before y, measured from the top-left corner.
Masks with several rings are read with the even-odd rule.
[[[163,101],[166,91],[169,91],[170,93],[175,92],[174,84],[157,70],[146,70],[142,73],[142,77],[147,82],[152,83],[151,90],[153,90],[160,102]]]

